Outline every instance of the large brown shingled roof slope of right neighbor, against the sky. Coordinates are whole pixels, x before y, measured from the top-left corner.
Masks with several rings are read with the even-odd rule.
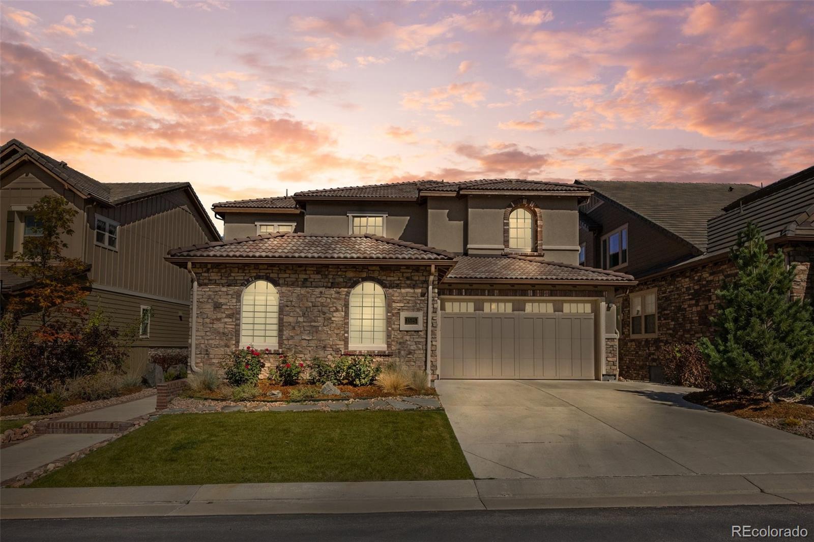
[[[689,243],[707,250],[707,221],[756,186],[709,182],[575,181]]]

